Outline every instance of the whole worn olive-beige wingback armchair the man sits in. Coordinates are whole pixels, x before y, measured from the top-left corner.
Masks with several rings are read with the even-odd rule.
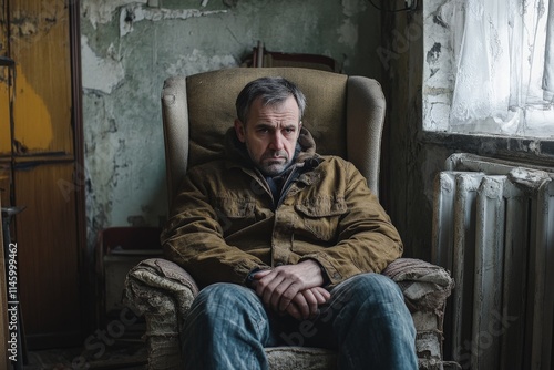
[[[165,81],[162,111],[170,204],[188,166],[222,156],[223,136],[235,119],[235,99],[246,83],[265,75],[295,82],[307,96],[304,124],[317,152],[352,162],[377,194],[384,96],[371,79],[297,68],[227,69]],[[442,369],[442,322],[453,281],[444,269],[401,258],[383,274],[401,287],[417,329],[420,369]],[[151,369],[182,367],[181,330],[198,292],[176,264],[148,259],[125,281],[124,301],[146,319]],[[335,369],[336,353],[300,347],[267,348],[270,369]]]

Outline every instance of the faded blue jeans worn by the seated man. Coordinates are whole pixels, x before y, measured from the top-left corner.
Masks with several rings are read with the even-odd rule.
[[[338,351],[339,369],[418,369],[416,329],[397,284],[355,276],[331,290],[320,314],[296,320],[266,309],[254,290],[214,284],[194,300],[183,331],[185,369],[268,369],[264,347]]]

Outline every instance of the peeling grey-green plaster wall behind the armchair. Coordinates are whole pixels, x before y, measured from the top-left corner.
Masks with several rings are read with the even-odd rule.
[[[163,81],[239,65],[258,40],[376,76],[379,14],[365,0],[81,2],[89,245],[110,226],[166,217]],[[232,123],[229,122],[229,125]]]

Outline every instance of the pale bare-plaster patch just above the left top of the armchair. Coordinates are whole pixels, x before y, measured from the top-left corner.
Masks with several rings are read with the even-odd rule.
[[[170,65],[165,71],[170,75],[191,75],[203,71],[212,71],[237,65],[238,62],[233,55],[209,56],[202,51],[194,49],[192,54],[181,55],[178,60],[174,64]],[[198,68],[202,68],[202,71],[199,71]]]

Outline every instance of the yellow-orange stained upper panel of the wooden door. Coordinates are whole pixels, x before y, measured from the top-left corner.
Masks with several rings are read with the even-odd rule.
[[[69,9],[63,0],[10,1],[17,62],[17,154],[73,153]]]

